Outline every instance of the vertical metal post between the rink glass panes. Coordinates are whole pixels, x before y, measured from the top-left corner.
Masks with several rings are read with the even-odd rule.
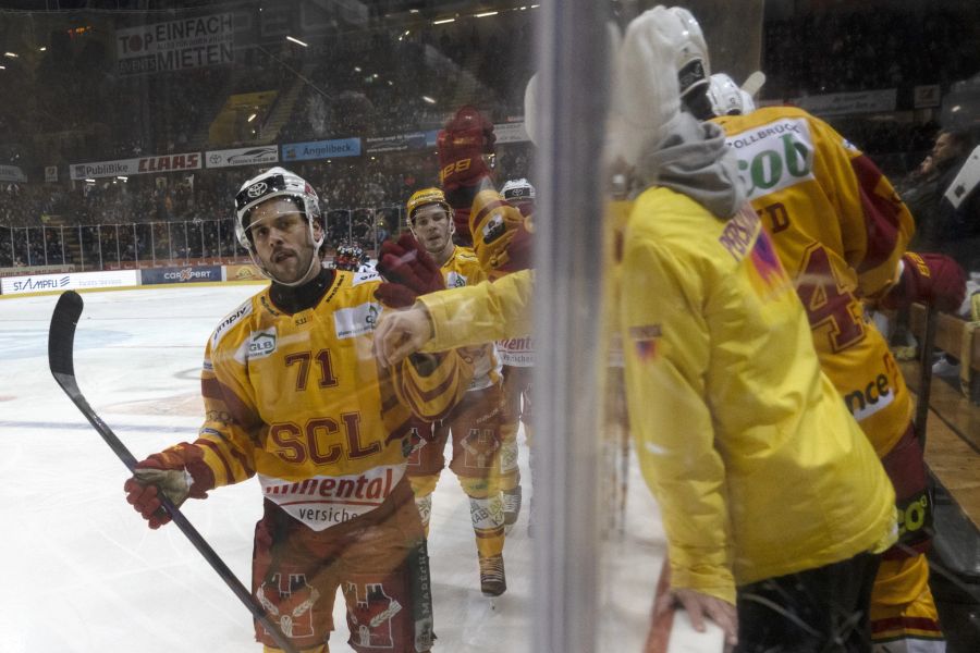
[[[607,2],[541,3],[534,426],[531,626],[535,653],[599,645],[600,399],[604,184],[600,162],[610,85]],[[583,89],[588,89],[583,93]],[[540,479],[540,482],[539,482]],[[539,534],[540,533],[540,534]]]

